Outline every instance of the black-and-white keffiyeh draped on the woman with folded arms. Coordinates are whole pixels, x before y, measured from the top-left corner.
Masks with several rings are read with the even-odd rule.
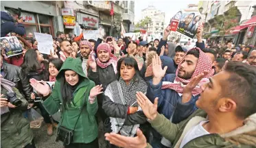
[[[110,83],[104,94],[110,98],[111,101],[128,106],[138,106],[136,93],[141,91],[146,94],[147,84],[143,80],[133,78],[128,85],[124,82],[124,79],[120,77],[118,81]],[[138,111],[141,108],[138,106]],[[115,133],[119,133],[124,136],[135,136],[139,124],[137,125],[124,125],[126,119],[112,118],[110,117],[111,130]]]

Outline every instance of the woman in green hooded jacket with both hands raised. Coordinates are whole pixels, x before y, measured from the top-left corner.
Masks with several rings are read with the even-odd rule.
[[[95,86],[94,82],[84,75],[80,59],[65,60],[52,92],[45,82],[30,79],[30,84],[38,93],[47,97],[43,106],[49,114],[60,110],[58,128],[73,130],[73,140],[69,145],[64,141],[65,148],[99,147],[95,114],[98,109],[96,96],[102,93],[102,86]]]

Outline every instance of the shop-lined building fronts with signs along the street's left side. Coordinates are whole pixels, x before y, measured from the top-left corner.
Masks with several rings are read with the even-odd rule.
[[[79,35],[84,29],[104,29],[110,35],[110,9],[113,2],[113,36],[119,36],[121,23],[126,32],[134,29],[134,1],[1,1],[1,11],[21,8],[28,32]],[[133,26],[132,26],[133,25]]]

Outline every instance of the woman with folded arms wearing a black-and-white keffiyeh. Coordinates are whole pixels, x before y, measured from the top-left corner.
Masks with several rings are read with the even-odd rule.
[[[140,124],[146,123],[146,116],[137,104],[136,93],[146,94],[147,84],[139,76],[134,58],[121,58],[117,62],[117,80],[106,87],[102,108],[110,116],[110,123],[104,123],[111,131],[124,136],[135,136]]]

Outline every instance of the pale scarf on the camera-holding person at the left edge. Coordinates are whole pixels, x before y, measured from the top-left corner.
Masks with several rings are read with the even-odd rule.
[[[5,88],[9,93],[13,93],[12,87],[15,86],[14,82],[10,82],[7,79],[4,79],[3,77],[0,77],[1,80],[1,87]],[[1,114],[4,114],[6,112],[10,112],[8,106],[1,107]]]

